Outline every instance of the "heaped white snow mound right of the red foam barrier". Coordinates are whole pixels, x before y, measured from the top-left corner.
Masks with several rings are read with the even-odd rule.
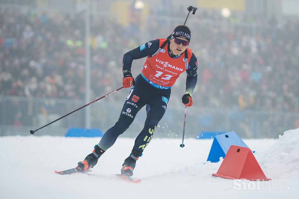
[[[290,179],[299,176],[299,128],[285,131],[283,136],[259,158],[267,177]]]

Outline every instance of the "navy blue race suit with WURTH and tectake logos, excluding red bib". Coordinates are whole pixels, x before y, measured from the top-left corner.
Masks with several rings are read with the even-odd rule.
[[[151,45],[149,45],[151,43]],[[167,44],[168,55],[170,59],[177,59],[181,55],[173,55],[170,50],[170,43]],[[144,45],[143,45],[144,46]],[[134,59],[140,59],[147,56],[152,56],[159,49],[159,40],[152,40],[145,44],[145,48],[135,48],[123,56],[123,70],[131,70],[132,61]],[[186,94],[192,96],[193,90],[197,82],[197,59],[192,53],[191,59],[189,61],[186,80]],[[144,124],[144,128],[137,136],[135,140],[135,145],[133,147],[132,153],[136,156],[140,156],[144,148],[148,145],[152,139],[155,128],[158,122],[162,119],[166,109],[168,101],[170,100],[171,88],[169,89],[159,89],[155,88],[149,84],[144,78],[139,74],[135,79],[136,85],[129,91],[128,97],[125,100],[123,108],[120,113],[120,117],[115,125],[108,129],[103,135],[102,139],[98,143],[100,149],[106,151],[109,149],[116,141],[118,136],[126,131],[127,128],[133,122],[138,111],[146,105],[147,119]]]

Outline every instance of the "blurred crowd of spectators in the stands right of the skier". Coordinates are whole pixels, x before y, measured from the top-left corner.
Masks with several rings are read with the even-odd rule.
[[[296,20],[253,36],[241,28],[201,29],[195,49],[203,69],[198,92],[203,105],[298,112],[298,28]]]

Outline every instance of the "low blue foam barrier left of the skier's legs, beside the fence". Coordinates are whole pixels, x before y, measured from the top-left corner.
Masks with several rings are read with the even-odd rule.
[[[70,128],[65,137],[102,137],[103,132],[97,128]]]

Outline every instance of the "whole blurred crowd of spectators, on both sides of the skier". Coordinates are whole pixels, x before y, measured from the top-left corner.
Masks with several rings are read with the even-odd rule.
[[[199,22],[236,22],[205,12],[197,17]],[[199,63],[194,102],[202,107],[299,112],[299,20],[278,25],[272,16],[267,22],[246,17],[241,22],[269,27],[223,27],[193,20],[190,48]],[[151,20],[147,33],[166,38],[171,30],[159,23],[167,21]],[[0,95],[84,99],[84,28],[83,14],[0,8]],[[123,54],[147,42],[131,32],[113,19],[91,17],[91,99],[121,86]],[[141,69],[142,63],[136,63]]]

